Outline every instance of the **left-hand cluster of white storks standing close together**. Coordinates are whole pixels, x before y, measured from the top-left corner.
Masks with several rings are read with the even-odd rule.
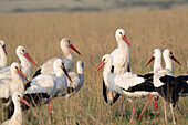
[[[48,60],[34,75],[32,74],[31,63],[35,66],[36,64],[28,54],[25,48],[19,45],[15,50],[21,63],[13,62],[10,66],[7,66],[6,41],[0,40],[0,107],[3,108],[4,119],[10,118],[3,125],[21,125],[23,122],[21,111],[43,104],[49,105],[49,113],[52,115],[51,101],[59,96],[66,98],[67,112],[67,100],[84,83],[84,63],[77,61],[77,72],[73,72],[74,59],[70,49],[80,55],[81,53],[67,38],[63,38],[60,42],[64,56],[54,56]]]

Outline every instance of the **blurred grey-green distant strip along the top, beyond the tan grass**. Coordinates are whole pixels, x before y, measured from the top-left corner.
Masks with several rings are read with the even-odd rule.
[[[187,7],[188,0],[0,0],[0,12],[76,12]]]

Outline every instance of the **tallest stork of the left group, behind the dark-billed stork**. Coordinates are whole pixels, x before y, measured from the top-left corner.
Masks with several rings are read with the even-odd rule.
[[[61,59],[65,65],[65,69],[67,72],[72,72],[74,70],[74,59],[73,55],[71,54],[71,51],[69,50],[69,48],[71,48],[72,50],[74,50],[77,54],[81,55],[81,53],[71,44],[70,39],[67,38],[63,38],[60,42],[60,46],[64,53],[64,58],[59,58],[59,56],[54,56],[50,60],[48,60],[44,64],[41,65],[41,67],[35,72],[35,74],[33,75],[33,77],[42,74],[42,73],[51,73],[54,74],[53,71],[53,62],[56,59]]]

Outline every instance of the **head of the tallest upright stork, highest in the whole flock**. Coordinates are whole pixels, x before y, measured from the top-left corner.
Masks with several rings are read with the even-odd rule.
[[[129,46],[132,46],[130,43],[128,42],[128,39],[126,38],[126,33],[123,29],[116,30],[115,38],[116,38],[117,41],[121,40],[121,39],[124,40]]]

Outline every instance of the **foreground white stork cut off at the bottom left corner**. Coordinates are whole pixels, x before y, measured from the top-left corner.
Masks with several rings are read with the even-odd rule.
[[[23,100],[23,94],[20,91],[13,92],[12,101],[14,104],[13,116],[9,121],[2,123],[2,125],[23,125],[20,101],[28,106],[30,105],[25,100]]]

